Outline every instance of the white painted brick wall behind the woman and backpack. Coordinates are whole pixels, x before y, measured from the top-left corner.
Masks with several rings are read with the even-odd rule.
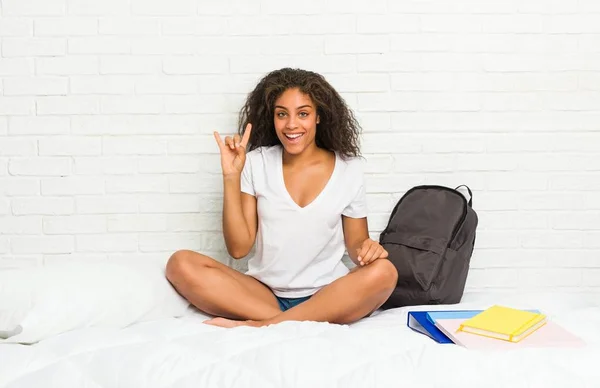
[[[372,237],[410,187],[464,183],[469,290],[600,292],[598,4],[1,0],[0,267],[226,261],[212,131],[296,66],[364,127]]]

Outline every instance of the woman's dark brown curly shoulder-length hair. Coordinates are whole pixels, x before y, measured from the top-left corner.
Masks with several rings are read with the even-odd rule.
[[[275,70],[264,76],[241,108],[238,122],[240,136],[246,125],[252,124],[247,151],[281,144],[275,133],[275,101],[290,88],[298,88],[307,94],[317,108],[320,123],[315,141],[318,147],[336,151],[343,157],[360,156],[361,127],[344,99],[322,75],[291,68]]]

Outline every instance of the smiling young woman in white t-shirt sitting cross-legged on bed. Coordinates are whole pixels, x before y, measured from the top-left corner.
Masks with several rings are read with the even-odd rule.
[[[242,131],[242,128],[245,128]],[[205,323],[233,327],[282,321],[355,322],[396,286],[387,252],[369,238],[359,125],[319,74],[267,74],[240,112],[238,134],[221,153],[223,234],[243,274],[180,250],[166,275]],[[344,251],[357,265],[341,261]]]

